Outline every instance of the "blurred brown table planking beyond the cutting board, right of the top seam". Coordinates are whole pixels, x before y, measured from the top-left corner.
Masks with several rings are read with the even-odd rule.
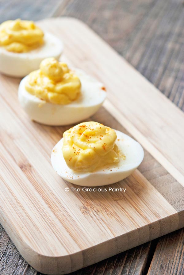
[[[63,13],[86,22],[184,110],[182,0],[72,0]]]

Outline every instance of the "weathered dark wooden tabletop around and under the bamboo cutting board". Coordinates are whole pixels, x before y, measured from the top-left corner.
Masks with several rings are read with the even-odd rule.
[[[84,21],[184,111],[183,0],[0,0],[0,22],[53,16]],[[1,226],[0,274],[40,274]],[[184,229],[72,274],[184,274]]]

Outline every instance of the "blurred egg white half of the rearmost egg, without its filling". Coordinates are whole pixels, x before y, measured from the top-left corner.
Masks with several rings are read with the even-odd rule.
[[[30,52],[8,52],[0,47],[0,72],[14,77],[23,77],[39,69],[40,62],[47,57],[57,60],[63,52],[63,43],[53,34],[44,33],[44,45]]]

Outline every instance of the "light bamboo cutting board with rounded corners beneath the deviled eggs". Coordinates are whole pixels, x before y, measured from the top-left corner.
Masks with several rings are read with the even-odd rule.
[[[39,25],[63,40],[72,65],[107,87],[90,119],[145,149],[138,170],[107,186],[125,192],[72,192],[50,162],[69,126],[30,121],[17,100],[20,79],[0,76],[0,222],[30,265],[65,274],[184,226],[184,114],[82,22]]]

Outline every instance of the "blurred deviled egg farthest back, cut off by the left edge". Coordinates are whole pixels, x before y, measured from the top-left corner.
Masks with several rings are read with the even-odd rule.
[[[44,33],[33,21],[9,20],[0,25],[0,72],[23,77],[39,68],[47,57],[59,56],[63,43]]]

